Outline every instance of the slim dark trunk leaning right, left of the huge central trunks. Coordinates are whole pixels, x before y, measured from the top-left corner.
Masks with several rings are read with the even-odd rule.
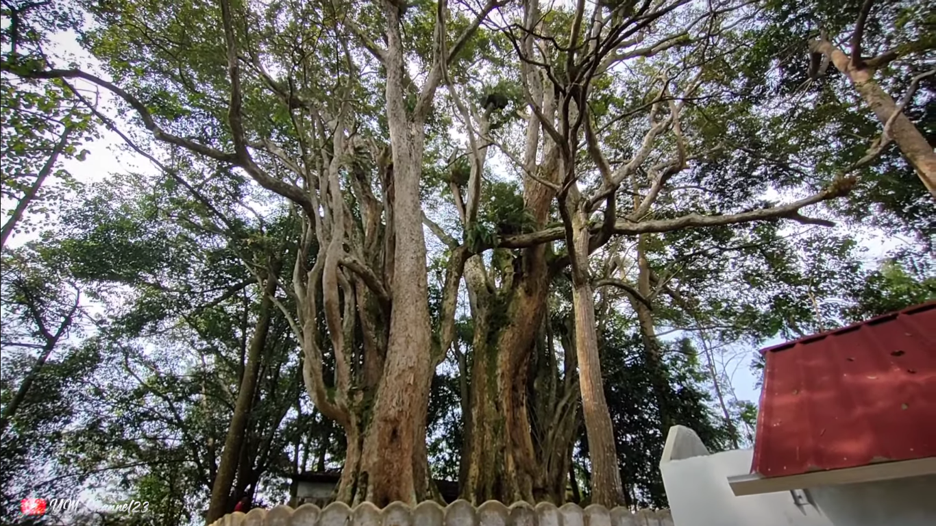
[[[273,275],[278,271],[278,264],[270,269]],[[257,374],[260,371],[260,356],[267,342],[267,333],[270,330],[272,310],[272,295],[276,293],[276,280],[268,279],[263,287],[263,297],[260,299],[260,312],[256,319],[254,336],[250,341],[247,352],[247,363],[241,377],[241,386],[238,389],[237,402],[234,405],[234,414],[231,416],[230,427],[227,430],[225,448],[221,453],[221,462],[218,465],[217,475],[212,485],[212,500],[208,505],[206,521],[211,524],[221,519],[227,513],[227,501],[230,496],[234,476],[237,475],[238,463],[241,458],[241,447],[250,419],[250,411],[254,401]]]

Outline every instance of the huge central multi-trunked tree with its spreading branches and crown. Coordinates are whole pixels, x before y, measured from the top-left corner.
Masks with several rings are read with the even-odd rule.
[[[276,357],[291,344],[316,410],[344,432],[344,502],[437,497],[437,436],[430,451],[427,430],[442,402],[431,396],[451,396],[458,371],[463,497],[562,502],[576,479],[569,466],[581,418],[590,498],[620,504],[635,494],[621,474],[644,475],[620,469],[621,429],[602,372],[609,309],[633,314],[647,373],[639,378],[658,415],[648,421],[662,437],[686,415],[662,326],[692,332],[707,356],[712,341],[812,327],[804,321],[828,316],[812,313],[833,292],[831,271],[798,260],[782,228],[840,217],[868,224],[880,218],[856,211],[883,203],[881,217],[923,237],[932,208],[916,178],[895,183],[906,171],[899,155],[869,152],[841,131],[878,125],[834,106],[841,86],[804,98],[788,89],[786,73],[765,80],[785,52],[776,37],[782,17],[756,3],[82,6],[91,22],[79,28],[81,43],[102,72],[28,53],[5,55],[3,71],[37,86],[110,92],[136,125],[118,124],[86,92],[69,96],[184,196],[154,200],[151,213],[165,223],[154,231],[165,234],[111,247],[106,271],[82,279],[136,287],[145,308],[135,315],[162,313],[206,342],[217,327],[205,332],[204,324],[221,318],[245,335],[237,373],[224,376],[233,386],[229,415],[212,413],[231,424],[225,445],[217,437],[204,449],[220,460],[207,477],[209,520],[263,467],[243,454],[256,444],[248,415],[262,405],[255,392],[280,392],[263,374],[288,361]],[[809,37],[797,34],[797,52]],[[908,104],[908,119],[925,115],[918,106]],[[815,122],[834,139],[812,133]],[[885,162],[875,164],[878,154]],[[896,187],[882,197],[881,188]],[[92,245],[72,243],[82,246]],[[162,266],[119,257],[141,247]],[[197,265],[186,267],[186,257]],[[69,266],[89,262],[85,254]],[[805,285],[797,266],[815,272]],[[167,280],[170,270],[197,283]],[[222,282],[213,295],[204,296],[205,276]],[[725,283],[745,279],[750,291],[724,294]],[[252,315],[231,317],[230,301],[244,290]],[[186,295],[208,306],[184,304]],[[167,314],[168,305],[178,308]],[[752,320],[759,325],[746,327]],[[121,353],[134,348],[117,343]],[[139,363],[129,369],[149,369]],[[718,373],[710,376],[720,389]],[[730,420],[733,409],[716,397]],[[279,433],[282,419],[265,429]],[[300,420],[311,419],[289,425]],[[311,434],[290,435],[297,463],[310,447],[326,456]],[[201,459],[198,447],[189,461]]]

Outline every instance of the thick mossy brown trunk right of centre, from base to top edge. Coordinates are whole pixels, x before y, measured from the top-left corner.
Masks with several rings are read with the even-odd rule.
[[[536,2],[524,4],[524,25],[531,34],[540,23]],[[533,55],[533,37],[524,40]],[[537,104],[544,113],[555,112],[553,90],[544,89],[540,71],[524,72]],[[555,182],[558,149],[541,144],[541,123],[536,115],[527,121],[523,164],[530,173]],[[545,147],[541,164],[537,155]],[[483,157],[482,163],[483,164]],[[525,177],[523,199],[534,225],[546,225],[553,190]],[[466,445],[462,456],[461,496],[474,504],[486,500],[534,502],[548,492],[543,462],[537,459],[527,403],[527,379],[537,329],[547,311],[547,247],[528,248],[520,255],[519,272],[509,285],[489,291],[483,266],[470,261],[465,279],[472,297],[475,319],[474,364],[471,374],[471,413],[465,417]],[[497,302],[497,305],[492,305]],[[496,307],[496,308],[493,308]],[[571,439],[570,439],[571,440]]]

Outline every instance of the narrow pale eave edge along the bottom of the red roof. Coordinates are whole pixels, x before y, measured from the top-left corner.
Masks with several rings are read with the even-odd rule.
[[[874,482],[920,475],[936,475],[936,457],[881,462],[855,468],[817,471],[801,475],[772,477],[759,474],[735,475],[728,477],[728,485],[731,486],[735,496],[740,497],[773,493],[775,491]]]

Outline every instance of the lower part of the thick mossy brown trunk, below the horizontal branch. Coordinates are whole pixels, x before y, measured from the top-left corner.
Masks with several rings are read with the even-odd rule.
[[[550,198],[544,194],[534,199],[537,206],[531,210],[539,214],[539,201],[548,204]],[[527,402],[530,358],[547,305],[546,247],[523,251],[511,290],[488,292],[483,272],[479,258],[465,268],[476,299],[470,429],[467,456],[462,459],[468,465],[461,496],[474,504],[533,503],[548,492],[544,466],[536,458]]]

